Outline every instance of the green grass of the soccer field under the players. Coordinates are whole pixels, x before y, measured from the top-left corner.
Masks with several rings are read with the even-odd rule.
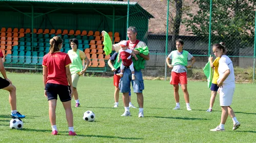
[[[0,90],[0,142],[254,142],[255,141],[255,84],[236,84],[232,108],[241,126],[232,131],[228,117],[225,132],[210,132],[220,123],[219,96],[214,111],[209,106],[210,91],[206,82],[188,82],[190,106],[187,111],[180,89],[180,110],[175,107],[173,88],[168,81],[145,80],[144,116],[138,118],[138,108],[130,109],[131,117],[121,117],[119,107],[113,108],[114,86],[112,78],[81,77],[78,84],[81,107],[72,108],[77,136],[68,136],[65,111],[57,101],[57,127],[59,135],[51,135],[47,98],[40,74],[8,73],[17,88],[18,111],[26,115],[23,130],[9,128],[10,105],[8,92]],[[137,105],[136,95],[132,102]],[[72,101],[72,106],[75,103]],[[82,120],[83,112],[92,110],[95,122]]]

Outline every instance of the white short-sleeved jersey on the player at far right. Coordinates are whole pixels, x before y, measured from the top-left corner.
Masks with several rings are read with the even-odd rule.
[[[232,61],[228,58],[227,55],[222,55],[221,59],[219,61],[219,79],[218,79],[218,83],[220,81],[220,79],[223,77],[224,72],[226,70],[230,70],[230,74],[228,75],[228,77],[226,78],[226,80],[223,81],[223,87],[228,86],[228,87],[235,87],[235,83],[234,83],[234,69],[233,69],[233,64]]]

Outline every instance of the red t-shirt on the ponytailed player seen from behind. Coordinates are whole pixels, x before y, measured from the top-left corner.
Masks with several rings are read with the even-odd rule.
[[[46,54],[42,60],[42,67],[47,67],[46,83],[69,85],[66,67],[70,64],[71,60],[67,53],[54,52]]]

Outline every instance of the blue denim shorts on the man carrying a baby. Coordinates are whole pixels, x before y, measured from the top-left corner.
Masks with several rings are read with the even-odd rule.
[[[135,80],[132,80],[132,72],[129,68],[124,68],[123,77],[120,79],[119,89],[121,93],[129,93],[131,91],[131,81],[134,93],[142,93],[144,90],[144,82],[142,73],[135,70]]]

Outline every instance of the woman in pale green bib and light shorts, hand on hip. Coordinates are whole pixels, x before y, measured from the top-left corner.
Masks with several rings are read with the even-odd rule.
[[[68,55],[70,57],[70,60],[72,64],[70,67],[71,77],[72,77],[72,84],[74,87],[73,95],[71,95],[71,98],[75,98],[76,105],[75,107],[80,106],[78,93],[77,93],[77,83],[79,80],[80,75],[82,75],[84,72],[86,72],[87,68],[89,67],[90,60],[87,58],[86,54],[78,49],[78,40],[77,39],[70,39],[70,46],[71,50],[68,51]],[[83,63],[86,63],[84,69],[83,69]]]

